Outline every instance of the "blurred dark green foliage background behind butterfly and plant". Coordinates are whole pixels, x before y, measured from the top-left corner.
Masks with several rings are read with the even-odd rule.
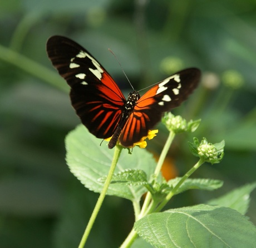
[[[256,2],[254,0],[10,0],[0,2],[0,246],[77,247],[96,194],[65,163],[65,135],[80,121],[65,81],[47,58],[47,38],[61,34],[88,49],[120,88],[156,83],[186,67],[203,72],[200,87],[175,114],[201,118],[179,135],[170,170],[196,161],[188,140],[225,139],[223,161],[197,177],[224,180],[213,193],[189,191],[168,207],[204,203],[256,179]],[[148,149],[160,153],[163,126]],[[100,144],[99,140],[99,144]],[[248,211],[256,224],[255,192]],[[87,247],[117,247],[133,224],[132,205],[107,197]]]

